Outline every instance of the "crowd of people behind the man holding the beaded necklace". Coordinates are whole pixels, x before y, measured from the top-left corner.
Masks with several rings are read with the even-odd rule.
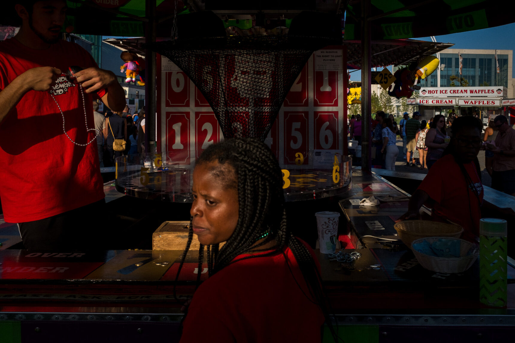
[[[107,111],[98,113],[98,102],[93,100],[93,115],[95,129],[98,130],[97,147],[100,167],[115,165],[115,159],[123,155],[141,153],[145,143],[145,107],[134,115],[129,113],[129,107],[123,111]],[[125,150],[116,151],[114,140],[124,140]]]

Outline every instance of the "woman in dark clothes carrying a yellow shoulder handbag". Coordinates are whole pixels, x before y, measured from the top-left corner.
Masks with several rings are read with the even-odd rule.
[[[104,139],[109,155],[106,167],[112,167],[114,166],[114,159],[122,156],[127,142],[127,122],[122,117],[122,112],[114,112],[113,115],[106,118]]]

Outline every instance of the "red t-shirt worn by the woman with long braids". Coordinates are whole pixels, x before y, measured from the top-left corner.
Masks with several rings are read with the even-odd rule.
[[[204,281],[188,308],[181,342],[320,342],[322,311],[308,299],[293,252],[283,251],[288,263],[282,253],[251,258]]]

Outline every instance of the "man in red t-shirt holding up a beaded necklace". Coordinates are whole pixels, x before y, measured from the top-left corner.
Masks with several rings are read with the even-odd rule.
[[[122,111],[125,94],[112,72],[100,70],[79,45],[59,39],[64,0],[11,6],[22,25],[0,43],[4,218],[19,223],[27,249],[86,249],[90,233],[104,224],[98,215],[105,204],[92,96]],[[75,74],[77,83],[63,74],[72,65],[84,68]]]

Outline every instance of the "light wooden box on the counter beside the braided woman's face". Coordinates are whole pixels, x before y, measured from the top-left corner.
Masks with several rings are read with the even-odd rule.
[[[188,241],[190,221],[165,221],[152,234],[152,250],[184,250]],[[190,250],[198,250],[197,235],[193,235]]]

